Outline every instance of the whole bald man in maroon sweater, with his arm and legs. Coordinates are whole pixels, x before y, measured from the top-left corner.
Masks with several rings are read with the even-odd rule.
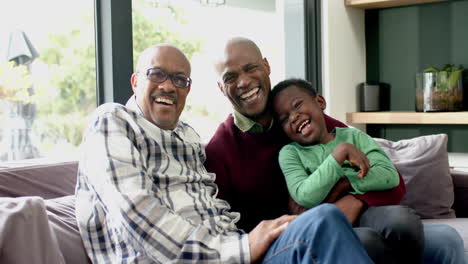
[[[227,41],[219,55],[215,64],[218,87],[233,113],[206,146],[205,166],[216,174],[219,197],[241,213],[238,226],[248,232],[262,219],[290,211],[278,164],[279,150],[289,139],[268,107],[271,69],[258,46],[250,39],[235,37]],[[324,118],[328,131],[346,127],[327,115]],[[349,182],[340,180],[330,191],[334,195],[327,197],[335,198],[326,202],[334,203],[359,226],[355,231],[374,262],[464,263],[463,240],[455,229],[422,225],[412,210],[393,205],[399,204],[405,194],[401,178],[400,185],[388,191],[351,195],[349,186]],[[303,211],[294,202],[289,205],[293,205],[294,213]]]

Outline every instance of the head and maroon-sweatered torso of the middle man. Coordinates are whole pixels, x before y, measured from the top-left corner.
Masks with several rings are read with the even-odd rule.
[[[208,171],[216,174],[220,197],[241,213],[239,227],[249,231],[262,219],[288,212],[288,190],[278,165],[289,143],[268,104],[270,65],[250,39],[230,39],[215,64],[219,90],[233,113],[206,147]],[[327,128],[344,127],[325,115]]]

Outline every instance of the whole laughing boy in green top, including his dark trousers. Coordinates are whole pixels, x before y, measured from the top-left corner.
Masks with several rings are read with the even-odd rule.
[[[411,209],[369,207],[350,214],[349,208],[339,205],[349,194],[399,184],[396,168],[379,145],[353,128],[337,127],[329,133],[323,115],[325,99],[305,80],[278,83],[269,99],[276,120],[293,141],[281,149],[279,163],[296,203],[305,208],[335,203],[356,226],[375,263],[422,263],[422,224]]]

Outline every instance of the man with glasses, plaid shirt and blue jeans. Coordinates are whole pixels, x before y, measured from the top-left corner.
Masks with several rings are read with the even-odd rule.
[[[82,143],[76,215],[93,263],[371,263],[333,206],[263,221],[249,234],[216,197],[200,138],[179,121],[190,63],[146,49],[125,106],[97,108]]]

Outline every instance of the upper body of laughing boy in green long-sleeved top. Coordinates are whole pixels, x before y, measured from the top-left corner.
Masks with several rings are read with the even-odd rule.
[[[312,208],[326,201],[343,179],[349,182],[351,194],[399,184],[395,166],[370,136],[354,128],[327,132],[325,100],[307,81],[277,84],[271,102],[283,131],[293,141],[281,149],[279,163],[289,193],[299,205]],[[334,202],[339,197],[328,198]]]

